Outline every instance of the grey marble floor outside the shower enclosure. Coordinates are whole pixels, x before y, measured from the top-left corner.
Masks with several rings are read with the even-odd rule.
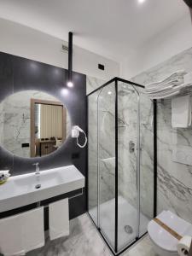
[[[49,241],[26,256],[112,256],[87,214],[70,221],[70,236]],[[123,256],[155,256],[148,236],[122,254]]]

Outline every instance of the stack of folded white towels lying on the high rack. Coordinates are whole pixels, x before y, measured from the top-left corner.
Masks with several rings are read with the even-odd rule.
[[[184,75],[186,75],[186,72],[181,70],[172,73],[162,81],[148,84],[146,86],[145,93],[148,94],[151,99],[163,99],[175,96],[180,93],[181,89],[191,85],[184,83]]]

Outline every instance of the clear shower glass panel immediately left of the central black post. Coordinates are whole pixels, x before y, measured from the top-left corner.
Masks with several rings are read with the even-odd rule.
[[[115,239],[115,87],[98,96],[99,227],[114,248]]]

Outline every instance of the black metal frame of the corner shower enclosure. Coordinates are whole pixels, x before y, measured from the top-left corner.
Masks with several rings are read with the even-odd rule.
[[[91,218],[89,213],[89,193],[88,193],[88,175],[89,172],[87,170],[87,212],[90,216],[90,219],[92,220],[93,224],[96,226],[96,229],[100,232],[100,235],[102,236],[103,240],[107,243],[109,249],[113,253],[113,255],[117,256],[121,253],[124,253],[125,250],[127,250],[129,247],[131,247],[133,244],[135,244],[139,239],[141,239],[143,236],[146,235],[143,234],[143,236],[136,237],[136,240],[131,242],[127,247],[125,247],[122,251],[118,253],[118,82],[122,82],[125,84],[132,84],[134,86],[145,88],[142,84],[137,84],[129,80],[120,79],[118,77],[115,77],[111,80],[109,80],[107,83],[102,84],[100,87],[96,88],[96,90],[91,91],[87,95],[87,121],[89,124],[89,106],[88,106],[88,97],[92,94],[94,94],[98,90],[102,90],[102,88],[106,87],[108,84],[111,84],[114,82],[115,86],[115,239],[114,239],[114,251],[112,247],[109,245],[107,239],[105,236],[102,235],[102,231],[100,228],[98,228],[94,222],[94,220]],[[156,217],[157,212],[157,102],[156,100],[153,100],[153,107],[154,107],[154,217]],[[89,125],[87,125],[87,132],[89,134]],[[87,147],[87,169],[88,169],[88,159],[89,159],[89,151]]]

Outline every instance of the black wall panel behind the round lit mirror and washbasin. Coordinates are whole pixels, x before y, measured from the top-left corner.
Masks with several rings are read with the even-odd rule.
[[[79,125],[87,131],[86,76],[73,73],[73,84],[73,88],[67,88],[67,70],[63,68],[0,53],[0,102],[20,90],[42,90],[65,104],[71,125]],[[32,163],[38,161],[41,171],[73,164],[86,178],[86,159],[86,148],[79,148],[71,137],[61,148],[42,158],[21,158],[0,146],[0,169],[9,168],[12,176],[34,172]],[[85,211],[86,189],[84,195],[70,200],[70,218]],[[4,217],[3,213],[1,217]]]

